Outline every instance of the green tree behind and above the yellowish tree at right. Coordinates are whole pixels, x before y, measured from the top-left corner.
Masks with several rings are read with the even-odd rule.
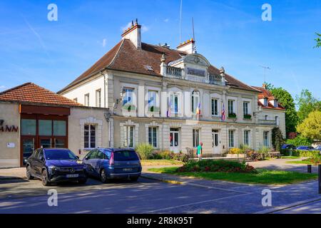
[[[302,123],[311,112],[321,110],[321,100],[314,98],[309,90],[302,90],[300,96],[297,95],[296,100],[298,123]]]

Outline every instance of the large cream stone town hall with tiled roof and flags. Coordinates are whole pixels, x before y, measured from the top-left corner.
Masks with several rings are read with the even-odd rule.
[[[137,22],[58,94],[108,108],[109,147],[147,142],[186,152],[203,142],[203,152],[221,155],[240,145],[272,147],[277,126],[285,136],[285,108],[264,86],[248,86],[216,68],[196,53],[193,39],[176,49],[143,43]],[[99,146],[88,142],[79,149],[91,145]]]

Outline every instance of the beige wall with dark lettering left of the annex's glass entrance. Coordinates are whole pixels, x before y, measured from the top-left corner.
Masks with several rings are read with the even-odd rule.
[[[4,126],[19,126],[18,133],[0,132],[0,167],[20,166],[20,115],[19,105],[0,102],[0,120]],[[14,143],[14,148],[8,148],[7,143]]]

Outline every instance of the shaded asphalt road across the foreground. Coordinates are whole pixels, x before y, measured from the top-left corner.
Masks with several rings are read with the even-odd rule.
[[[253,213],[317,197],[317,182],[272,190],[272,207],[263,207],[266,186],[199,181],[173,185],[140,178],[86,185],[43,187],[39,180],[0,182],[0,213]],[[58,192],[58,206],[49,207],[48,190]]]

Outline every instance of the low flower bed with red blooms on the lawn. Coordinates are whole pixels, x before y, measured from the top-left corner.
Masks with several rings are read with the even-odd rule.
[[[253,166],[245,162],[227,160],[201,160],[199,162],[189,161],[178,172],[257,172]]]

